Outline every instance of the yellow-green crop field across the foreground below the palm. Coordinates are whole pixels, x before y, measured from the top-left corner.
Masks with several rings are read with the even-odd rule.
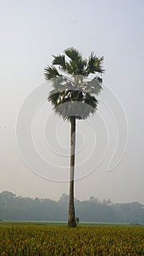
[[[144,226],[1,222],[0,255],[144,255]]]

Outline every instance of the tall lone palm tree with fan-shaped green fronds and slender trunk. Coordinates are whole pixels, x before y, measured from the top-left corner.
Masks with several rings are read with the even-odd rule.
[[[76,227],[74,203],[76,119],[86,119],[97,109],[96,96],[102,90],[103,60],[103,56],[98,58],[94,53],[91,53],[88,59],[83,59],[78,50],[68,48],[64,50],[63,55],[53,56],[52,65],[45,67],[45,79],[50,81],[52,86],[48,100],[58,116],[70,121],[71,127],[68,227]],[[93,75],[94,78],[88,80],[90,74],[98,75]]]

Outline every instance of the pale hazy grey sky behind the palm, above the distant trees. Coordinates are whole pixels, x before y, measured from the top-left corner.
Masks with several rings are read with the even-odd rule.
[[[143,0],[0,0],[0,191],[54,200],[68,193],[69,124],[54,116],[45,101],[43,70],[53,54],[73,46],[85,57],[91,51],[105,56],[106,70],[99,114],[77,122],[75,197],[144,203],[143,27]],[[37,110],[33,119],[32,108]],[[18,115],[22,121],[16,124]],[[126,145],[126,118],[129,138],[118,163]],[[26,137],[31,122],[40,160]],[[110,171],[117,140],[116,167]],[[24,150],[33,171],[20,157]]]

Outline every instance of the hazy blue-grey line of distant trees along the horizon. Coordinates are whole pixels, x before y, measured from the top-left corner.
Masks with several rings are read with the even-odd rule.
[[[0,193],[0,219],[5,221],[67,221],[67,206],[66,194],[54,201]],[[75,206],[80,222],[144,223],[144,205],[137,202],[112,203],[110,199],[90,197],[85,201],[75,199]]]

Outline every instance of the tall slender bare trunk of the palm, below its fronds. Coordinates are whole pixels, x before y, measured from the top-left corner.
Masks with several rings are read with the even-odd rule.
[[[75,177],[75,126],[76,118],[70,118],[70,180],[69,180],[69,217],[68,227],[76,227],[74,203],[74,177]]]

